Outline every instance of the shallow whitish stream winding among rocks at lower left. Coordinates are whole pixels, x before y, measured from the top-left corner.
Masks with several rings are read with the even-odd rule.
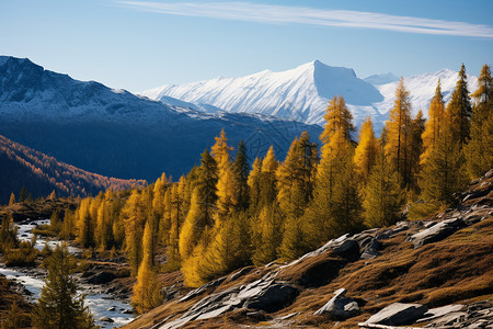
[[[31,223],[22,223],[18,225],[19,226],[18,236],[20,240],[31,241],[31,238],[33,236],[32,229],[36,225],[42,224],[49,224],[49,219],[33,220]],[[36,240],[35,248],[42,250],[45,247],[45,243],[46,243],[45,239],[38,238]],[[61,242],[57,240],[48,241],[48,245],[51,248],[56,247],[59,243]],[[68,250],[70,253],[81,252],[81,249],[74,247],[68,247]],[[7,269],[2,263],[0,263],[0,274],[3,274],[5,275],[7,279],[15,280],[20,282],[22,285],[24,285],[25,288],[33,294],[32,295],[33,299],[39,298],[41,290],[44,286],[44,281],[41,277],[36,277],[34,274],[27,273],[22,269],[10,269],[10,268]],[[81,291],[80,293],[84,293],[87,295],[85,306],[89,306],[94,319],[96,320],[96,325],[100,326],[101,328],[117,328],[130,322],[131,319],[134,319],[134,316],[131,314],[124,314],[124,311],[131,310],[131,306],[122,303],[119,300],[113,299],[113,297],[108,294],[101,294],[98,292],[93,292],[91,290]],[[114,310],[108,310],[113,308]],[[101,317],[108,317],[114,322],[107,324],[98,321],[98,319],[100,319]]]

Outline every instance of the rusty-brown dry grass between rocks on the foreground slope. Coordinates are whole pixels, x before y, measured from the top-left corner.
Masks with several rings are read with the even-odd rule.
[[[356,328],[358,322],[395,302],[438,307],[493,297],[493,217],[461,229],[440,242],[414,249],[406,237],[419,229],[417,225],[416,228],[383,240],[382,254],[372,260],[347,262],[328,252],[280,269],[276,280],[305,286],[305,290],[294,304],[271,316],[276,318],[296,311],[298,315],[289,319],[294,327]],[[277,269],[279,264],[253,269],[237,280],[226,280],[215,292],[248,284]],[[175,283],[180,281],[180,274],[176,273],[160,279],[167,284]],[[322,286],[303,283],[307,276],[317,275],[330,280]],[[362,314],[347,320],[313,316],[341,287],[347,290],[347,296],[358,298]],[[126,328],[149,328],[151,324],[168,317],[177,318],[204,296],[186,303],[169,302]],[[275,320],[254,321],[239,309],[215,319],[192,321],[183,328],[270,327],[275,324]]]

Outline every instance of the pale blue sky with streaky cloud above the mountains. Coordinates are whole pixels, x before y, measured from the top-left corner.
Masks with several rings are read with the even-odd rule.
[[[0,55],[133,92],[314,59],[360,78],[493,64],[491,0],[0,0]]]

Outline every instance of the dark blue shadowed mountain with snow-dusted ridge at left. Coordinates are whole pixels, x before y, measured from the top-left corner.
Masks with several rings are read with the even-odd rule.
[[[320,126],[263,115],[207,114],[193,104],[150,101],[101,83],[45,70],[28,59],[0,57],[0,134],[78,168],[108,177],[177,179],[225,128],[245,140],[250,160],[274,145],[284,158],[295,136]],[[192,107],[192,109],[188,109]],[[194,110],[195,109],[195,110]]]

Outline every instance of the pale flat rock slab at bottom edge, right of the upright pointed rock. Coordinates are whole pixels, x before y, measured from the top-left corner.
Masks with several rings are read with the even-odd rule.
[[[421,304],[393,303],[372,315],[365,324],[399,326],[413,324],[428,309]]]

